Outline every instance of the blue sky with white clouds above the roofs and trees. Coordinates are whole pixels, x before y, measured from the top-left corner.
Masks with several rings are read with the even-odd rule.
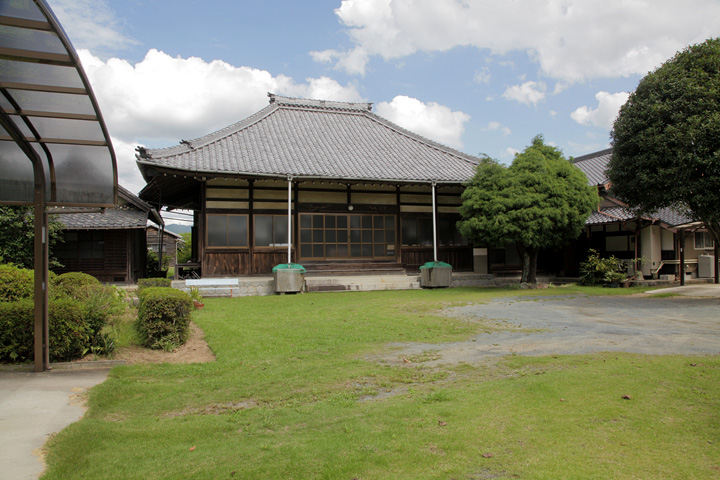
[[[619,107],[677,50],[720,32],[717,0],[48,0],[118,156],[203,136],[267,92],[369,101],[463,152],[510,162],[537,134],[608,147]]]

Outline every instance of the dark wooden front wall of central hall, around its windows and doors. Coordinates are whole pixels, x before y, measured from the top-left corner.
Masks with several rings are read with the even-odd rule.
[[[462,203],[463,187],[438,186],[438,216],[455,218]],[[293,244],[298,245],[301,213],[385,214],[395,215],[396,258],[409,270],[432,260],[432,246],[403,247],[402,218],[432,218],[432,187],[425,185],[392,185],[381,183],[340,183],[302,181],[292,184]],[[286,180],[215,178],[208,179],[202,192],[203,209],[196,215],[197,254],[202,259],[203,276],[269,274],[272,267],[287,263],[287,247],[255,247],[253,215],[287,215],[288,184]],[[352,206],[352,207],[351,207]],[[247,247],[209,247],[205,225],[208,214],[248,215]],[[292,260],[298,261],[293,248]],[[439,260],[456,270],[472,270],[472,248],[441,247]],[[329,260],[328,260],[329,261]],[[367,262],[367,260],[363,260]],[[385,259],[387,261],[387,259]]]

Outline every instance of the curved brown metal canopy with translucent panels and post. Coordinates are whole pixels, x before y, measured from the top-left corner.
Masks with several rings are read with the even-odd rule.
[[[35,370],[49,368],[48,205],[111,207],[117,164],[77,53],[45,0],[0,2],[0,204],[35,205]]]

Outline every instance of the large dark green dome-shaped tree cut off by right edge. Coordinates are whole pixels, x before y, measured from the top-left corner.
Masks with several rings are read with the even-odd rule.
[[[720,244],[720,39],[645,76],[611,138],[613,195],[641,212],[689,210]]]

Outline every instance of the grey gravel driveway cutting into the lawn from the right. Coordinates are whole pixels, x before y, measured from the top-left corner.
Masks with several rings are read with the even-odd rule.
[[[444,314],[488,325],[463,342],[396,343],[386,358],[425,352],[424,365],[480,362],[488,357],[631,352],[720,354],[720,299],[636,296],[504,298],[449,308]]]

